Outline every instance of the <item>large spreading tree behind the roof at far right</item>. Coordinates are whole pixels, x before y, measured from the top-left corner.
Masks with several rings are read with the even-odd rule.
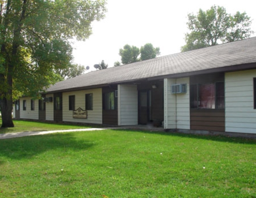
[[[252,21],[245,12],[230,15],[223,7],[212,6],[206,11],[200,9],[197,15],[187,16],[190,33],[185,35],[183,52],[249,38],[253,33],[250,29]]]

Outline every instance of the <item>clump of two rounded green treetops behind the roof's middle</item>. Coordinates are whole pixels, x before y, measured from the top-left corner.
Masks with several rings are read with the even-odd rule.
[[[136,46],[130,46],[126,44],[123,49],[119,50],[119,55],[121,56],[122,64],[126,65],[155,58],[160,55],[160,48],[154,48],[151,43],[147,43],[144,46],[141,46],[141,49]],[[139,57],[139,55],[141,55],[141,57]],[[120,63],[119,65],[118,63],[118,61],[115,62],[115,66],[119,66]]]

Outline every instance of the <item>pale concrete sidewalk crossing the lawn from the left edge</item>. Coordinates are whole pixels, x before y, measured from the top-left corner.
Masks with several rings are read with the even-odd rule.
[[[105,129],[107,129],[107,128],[105,128]],[[9,138],[32,136],[32,135],[44,135],[44,134],[49,134],[49,133],[96,131],[96,130],[105,130],[105,129],[90,128],[90,129],[68,129],[68,130],[54,130],[54,131],[27,131],[27,132],[19,132],[19,133],[2,133],[2,134],[0,134],[0,139],[9,139]]]

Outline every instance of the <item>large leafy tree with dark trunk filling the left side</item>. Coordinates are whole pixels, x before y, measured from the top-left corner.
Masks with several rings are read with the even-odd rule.
[[[105,0],[0,1],[0,107],[2,127],[13,127],[12,101],[38,97],[58,80],[53,69],[72,60],[69,40],[85,40],[102,19]]]

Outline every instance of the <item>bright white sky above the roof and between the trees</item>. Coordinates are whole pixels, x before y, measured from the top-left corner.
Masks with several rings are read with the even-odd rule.
[[[187,14],[206,11],[211,6],[223,6],[229,14],[246,12],[256,32],[256,1],[254,0],[107,0],[105,18],[92,23],[92,35],[73,43],[73,62],[89,66],[102,60],[108,67],[121,63],[119,49],[126,44],[140,48],[152,43],[160,48],[160,56],[180,53],[185,45]],[[251,35],[256,36],[256,34]]]

